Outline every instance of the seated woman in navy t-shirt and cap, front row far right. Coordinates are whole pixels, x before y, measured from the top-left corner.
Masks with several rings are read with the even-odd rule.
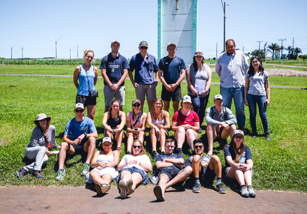
[[[235,131],[230,143],[224,146],[224,156],[226,176],[237,179],[241,186],[241,196],[256,197],[251,183],[251,178],[254,176],[252,170],[254,163],[251,159],[251,150],[244,143],[243,131]]]

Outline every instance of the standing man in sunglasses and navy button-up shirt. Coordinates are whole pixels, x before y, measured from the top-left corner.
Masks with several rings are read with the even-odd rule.
[[[138,47],[140,53],[130,59],[130,69],[128,74],[133,87],[135,88],[136,99],[141,101],[141,111],[145,102],[145,94],[149,111],[152,110],[153,100],[156,96],[156,87],[158,84],[158,64],[156,58],[147,53],[148,44],[142,41]],[[134,79],[132,72],[135,70]],[[155,75],[156,73],[156,75]]]

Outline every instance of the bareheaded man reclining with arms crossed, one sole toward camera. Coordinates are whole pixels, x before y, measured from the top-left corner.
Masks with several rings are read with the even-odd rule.
[[[153,192],[158,200],[165,201],[164,192],[177,182],[184,182],[192,173],[191,167],[181,170],[185,162],[181,154],[173,154],[175,141],[171,138],[165,141],[165,154],[160,154],[156,158],[156,167],[161,170],[158,185],[153,188]]]

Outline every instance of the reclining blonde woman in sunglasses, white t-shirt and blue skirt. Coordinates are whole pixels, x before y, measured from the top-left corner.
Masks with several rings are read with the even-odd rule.
[[[121,171],[116,178],[121,198],[126,198],[127,193],[131,195],[139,183],[146,185],[146,172],[152,171],[150,159],[145,154],[141,141],[134,140],[132,147],[132,154],[123,156],[117,167],[117,170]]]

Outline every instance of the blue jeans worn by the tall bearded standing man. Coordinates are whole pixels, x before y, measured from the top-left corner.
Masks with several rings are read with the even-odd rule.
[[[244,87],[241,88],[223,88],[220,87],[220,92],[223,97],[223,106],[231,109],[232,98],[235,103],[235,115],[238,121],[238,127],[244,128],[245,126],[245,113],[244,113]]]

